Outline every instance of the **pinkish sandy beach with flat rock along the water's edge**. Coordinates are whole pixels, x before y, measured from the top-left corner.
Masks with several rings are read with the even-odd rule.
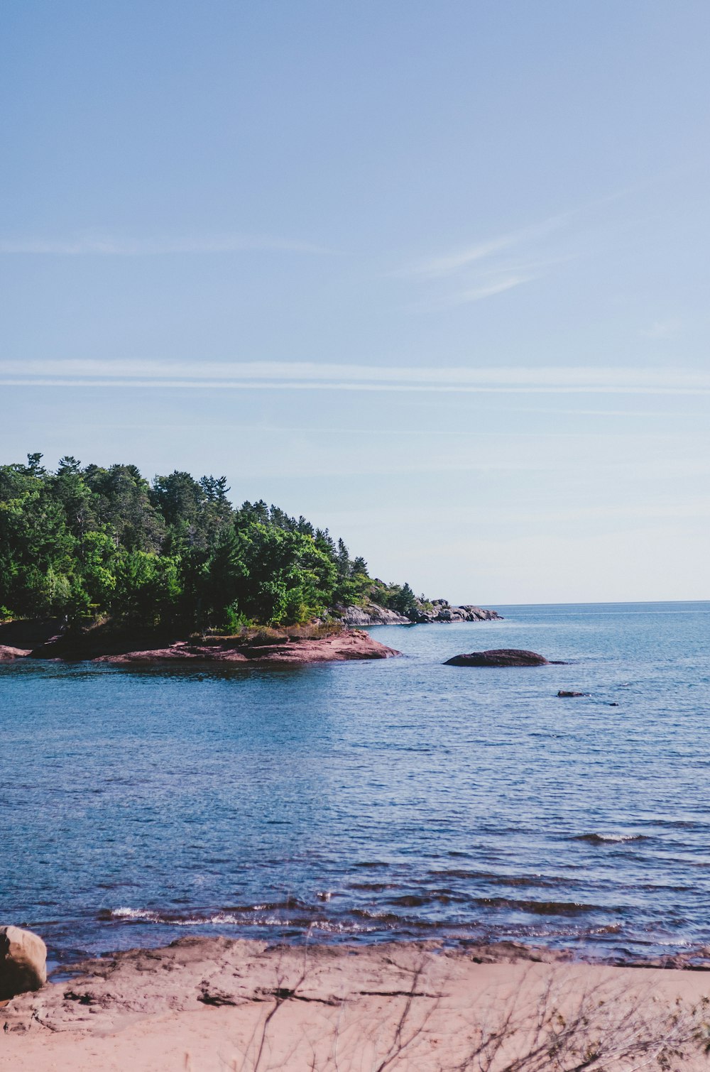
[[[1,1010],[0,1067],[694,1070],[707,1067],[691,1036],[705,1030],[708,994],[705,971],[590,965],[512,944],[186,938],[84,962],[13,999]]]

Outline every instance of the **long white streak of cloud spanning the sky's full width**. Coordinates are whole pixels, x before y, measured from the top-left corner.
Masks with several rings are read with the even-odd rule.
[[[183,387],[505,393],[707,394],[693,369],[519,366],[460,368],[311,361],[0,361],[5,386]]]

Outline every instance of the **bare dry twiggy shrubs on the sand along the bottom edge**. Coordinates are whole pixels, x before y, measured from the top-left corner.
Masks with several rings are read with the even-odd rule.
[[[470,1010],[446,1039],[444,994],[429,993],[426,962],[410,971],[410,986],[390,995],[399,1004],[368,1018],[343,1001],[329,1037],[292,1041],[286,1064],[273,1058],[279,1046],[278,1013],[289,1001],[317,998],[299,993],[307,967],[294,984],[277,979],[273,1003],[261,1019],[230,1072],[308,1069],[310,1072],[698,1072],[708,1068],[708,999],[696,1006],[657,999],[650,989],[600,984],[578,995],[564,992],[564,979],[547,984],[526,1001],[520,992],[501,1002]],[[523,991],[524,987],[521,987]],[[424,1000],[420,1000],[424,999]],[[325,1002],[324,1003],[328,1003]],[[346,1011],[353,1022],[347,1024]],[[394,1011],[393,1011],[394,1010]],[[439,1014],[442,1018],[439,1019]],[[353,1032],[354,1039],[353,1039]],[[433,1036],[450,1045],[452,1057],[432,1051]],[[440,1047],[441,1048],[441,1047]],[[327,1056],[324,1056],[327,1054]]]

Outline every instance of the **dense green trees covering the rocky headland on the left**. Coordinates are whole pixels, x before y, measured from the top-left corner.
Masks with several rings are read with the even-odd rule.
[[[135,465],[42,455],[0,466],[0,616],[233,629],[309,622],[369,600],[401,613],[342,540],[264,502],[235,509],[225,477],[146,480]]]

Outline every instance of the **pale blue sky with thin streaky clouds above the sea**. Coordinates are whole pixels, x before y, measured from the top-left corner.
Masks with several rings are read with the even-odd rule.
[[[5,0],[0,462],[373,575],[710,598],[706,0]]]

